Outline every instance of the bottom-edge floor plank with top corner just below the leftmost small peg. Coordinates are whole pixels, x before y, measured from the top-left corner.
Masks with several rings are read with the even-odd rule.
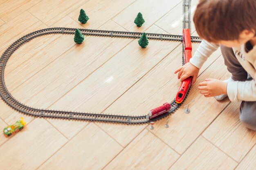
[[[145,129],[104,169],[163,170],[169,168],[178,157],[177,153]]]

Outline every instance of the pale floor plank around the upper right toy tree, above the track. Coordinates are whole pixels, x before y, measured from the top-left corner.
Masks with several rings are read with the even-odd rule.
[[[115,22],[129,31],[142,32],[175,7],[181,0],[137,0],[113,18]],[[132,12],[131,12],[132,11]],[[135,17],[141,12],[145,23],[137,27]]]

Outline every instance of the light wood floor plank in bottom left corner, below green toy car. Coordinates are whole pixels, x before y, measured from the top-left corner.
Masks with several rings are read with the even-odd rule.
[[[1,168],[36,169],[67,142],[44,119],[35,119],[0,146]]]

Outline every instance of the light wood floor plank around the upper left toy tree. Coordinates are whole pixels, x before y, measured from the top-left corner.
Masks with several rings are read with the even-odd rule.
[[[124,11],[124,9],[134,1],[135,0],[90,0],[81,4],[81,6],[70,13],[69,16],[76,22],[79,22],[79,11],[80,9],[84,9],[90,19],[86,24],[81,25],[85,28],[95,29],[105,22],[109,22],[112,17]],[[127,16],[122,20],[127,20]],[[112,30],[117,30],[117,28],[112,28]]]

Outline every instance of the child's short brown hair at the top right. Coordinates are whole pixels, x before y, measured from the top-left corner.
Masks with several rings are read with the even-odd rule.
[[[237,40],[243,30],[256,31],[256,0],[200,0],[193,21],[202,39]]]

